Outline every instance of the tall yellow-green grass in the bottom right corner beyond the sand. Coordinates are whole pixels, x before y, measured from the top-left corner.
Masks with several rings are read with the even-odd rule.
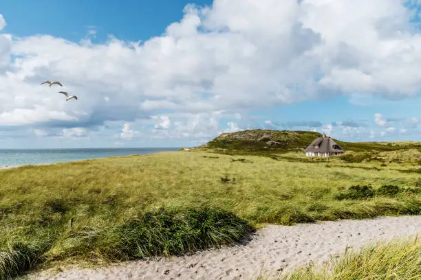
[[[268,277],[259,277],[260,280]],[[306,266],[277,279],[282,280],[415,280],[421,279],[421,242],[393,240],[347,251],[324,266]]]

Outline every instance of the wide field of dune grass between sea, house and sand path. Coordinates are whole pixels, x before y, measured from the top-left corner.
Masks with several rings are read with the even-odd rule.
[[[421,212],[414,163],[305,160],[162,152],[0,170],[0,279],[233,244],[268,223]],[[374,193],[341,197],[355,185]]]

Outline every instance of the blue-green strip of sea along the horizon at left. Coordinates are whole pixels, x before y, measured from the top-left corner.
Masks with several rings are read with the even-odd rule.
[[[154,154],[177,151],[181,148],[76,148],[40,150],[0,149],[0,167],[28,164],[65,163],[84,159],[100,159],[108,156],[129,156],[131,154]]]

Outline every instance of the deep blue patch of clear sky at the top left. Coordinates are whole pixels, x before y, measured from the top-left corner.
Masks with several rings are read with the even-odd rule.
[[[164,32],[169,24],[179,21],[184,0],[18,0],[3,1],[1,14],[8,26],[3,30],[17,36],[50,34],[78,41],[87,28],[98,28],[97,43],[113,34],[122,40],[147,40]],[[211,5],[212,1],[195,1],[198,5]]]

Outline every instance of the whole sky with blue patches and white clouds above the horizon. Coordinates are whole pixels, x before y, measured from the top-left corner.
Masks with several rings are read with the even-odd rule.
[[[421,141],[420,11],[420,0],[4,0],[0,148],[190,147],[255,128]]]

